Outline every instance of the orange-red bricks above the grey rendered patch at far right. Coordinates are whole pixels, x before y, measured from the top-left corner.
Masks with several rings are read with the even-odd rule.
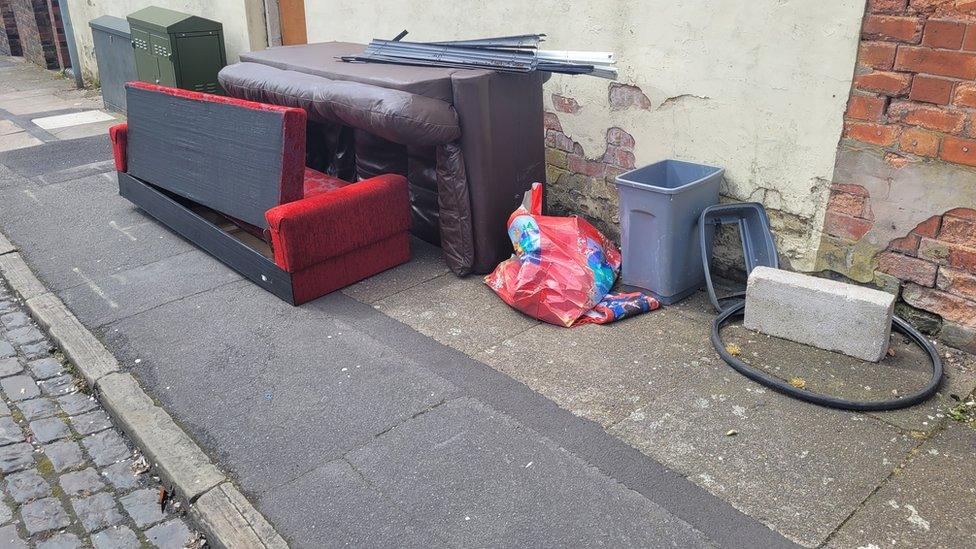
[[[844,137],[976,166],[976,1],[869,0]]]

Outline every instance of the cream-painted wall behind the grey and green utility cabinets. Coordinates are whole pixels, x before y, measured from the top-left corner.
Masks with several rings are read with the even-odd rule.
[[[68,0],[82,74],[86,78],[92,79],[98,75],[88,22],[102,15],[125,19],[130,13],[146,6],[159,6],[220,21],[224,26],[228,63],[237,62],[241,52],[263,49],[268,43],[263,0]]]

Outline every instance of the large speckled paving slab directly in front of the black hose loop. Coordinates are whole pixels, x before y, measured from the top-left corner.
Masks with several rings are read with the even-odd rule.
[[[721,361],[695,370],[610,432],[806,546],[826,540],[918,444],[869,416],[762,388]]]

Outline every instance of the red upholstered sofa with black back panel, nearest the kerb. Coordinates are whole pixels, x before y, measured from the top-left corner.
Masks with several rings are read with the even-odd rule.
[[[305,166],[302,109],[130,82],[119,194],[294,305],[410,259],[400,175]]]

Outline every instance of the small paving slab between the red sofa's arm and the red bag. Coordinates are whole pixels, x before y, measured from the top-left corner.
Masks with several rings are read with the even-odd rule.
[[[469,355],[539,324],[506,305],[480,276],[446,274],[375,305],[418,332]]]

